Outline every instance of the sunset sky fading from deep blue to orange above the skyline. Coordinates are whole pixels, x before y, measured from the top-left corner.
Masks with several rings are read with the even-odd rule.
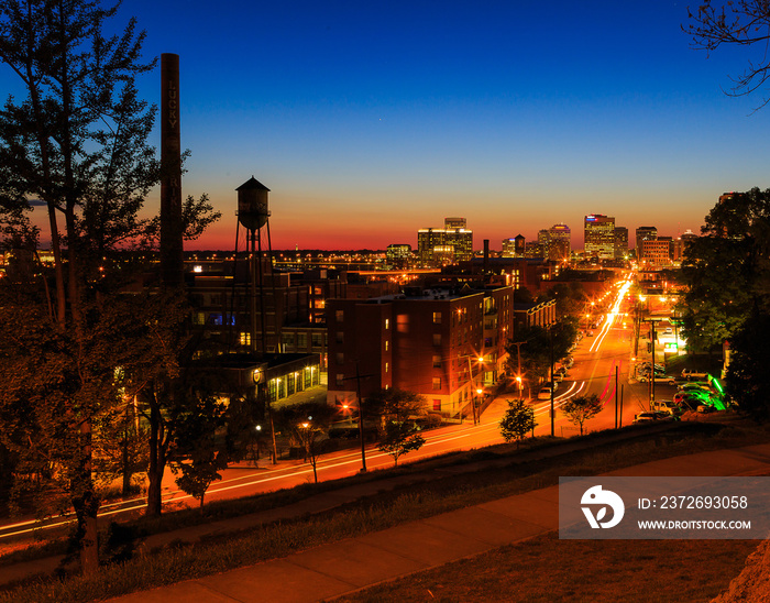
[[[447,216],[476,249],[557,222],[580,249],[586,213],[632,244],[638,226],[698,232],[722,193],[770,186],[770,108],[723,92],[749,55],[692,50],[686,7],[128,0],[114,22],[134,14],[146,56],[180,57],[184,194],[223,213],[187,249],[233,249],[252,175],[274,249],[416,246]],[[140,88],[160,103],[160,66]]]

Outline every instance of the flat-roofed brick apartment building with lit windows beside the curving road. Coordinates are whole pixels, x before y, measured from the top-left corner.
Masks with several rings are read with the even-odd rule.
[[[329,402],[398,388],[457,416],[505,371],[513,299],[513,287],[503,286],[328,300]]]

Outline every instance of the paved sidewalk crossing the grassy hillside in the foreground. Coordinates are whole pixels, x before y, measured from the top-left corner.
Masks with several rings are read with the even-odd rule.
[[[770,472],[770,443],[652,461],[607,475],[762,472]],[[372,485],[382,489],[382,484]],[[111,601],[309,602],[336,597],[551,531],[558,528],[558,486],[550,486]]]

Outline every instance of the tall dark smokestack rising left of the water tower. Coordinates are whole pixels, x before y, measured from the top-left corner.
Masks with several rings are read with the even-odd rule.
[[[179,55],[168,53],[161,55],[161,274],[176,287],[184,282]]]

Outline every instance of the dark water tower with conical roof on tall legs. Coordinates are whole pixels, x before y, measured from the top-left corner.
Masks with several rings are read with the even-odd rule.
[[[238,191],[238,221],[249,231],[251,241],[251,349],[256,348],[256,286],[260,286],[260,318],[262,327],[262,354],[266,353],[267,332],[265,330],[265,295],[262,266],[262,228],[267,226],[268,251],[270,245],[270,209],[267,194],[270,188],[260,183],[254,176],[243,183]],[[275,303],[275,298],[273,299]],[[276,317],[277,319],[277,317]]]

